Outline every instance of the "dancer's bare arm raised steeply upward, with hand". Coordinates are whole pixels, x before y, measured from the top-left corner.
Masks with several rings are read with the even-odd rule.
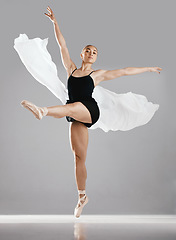
[[[49,6],[47,7],[47,10],[48,10],[49,14],[45,13],[45,15],[48,16],[51,19],[51,21],[53,22],[55,37],[56,37],[56,40],[60,47],[62,63],[64,65],[68,75],[70,75],[71,71],[76,68],[76,65],[70,58],[65,39],[60,31],[59,25],[56,21],[53,11],[51,10],[51,8]]]

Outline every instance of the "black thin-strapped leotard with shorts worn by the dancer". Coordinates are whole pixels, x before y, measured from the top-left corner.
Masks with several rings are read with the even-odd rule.
[[[77,68],[75,68],[75,70],[76,69]],[[98,121],[100,116],[100,111],[99,111],[97,102],[95,101],[94,98],[92,98],[92,93],[95,86],[94,86],[94,81],[90,76],[91,73],[83,77],[74,77],[71,74],[67,82],[69,100],[67,100],[66,104],[73,103],[73,102],[81,102],[84,104],[84,106],[87,107],[92,118],[92,123],[84,123],[84,122],[82,123],[88,128],[91,127],[93,124],[95,124]],[[69,116],[66,116],[66,119],[68,122],[76,121],[74,118],[71,118]]]

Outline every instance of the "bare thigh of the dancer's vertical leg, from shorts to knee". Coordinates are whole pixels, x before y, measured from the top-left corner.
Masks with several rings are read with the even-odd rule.
[[[75,157],[86,160],[88,147],[88,129],[80,122],[74,121],[70,124],[70,145]]]

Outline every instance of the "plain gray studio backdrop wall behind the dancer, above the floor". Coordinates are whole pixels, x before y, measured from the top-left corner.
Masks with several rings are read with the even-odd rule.
[[[37,120],[22,108],[61,102],[27,71],[13,48],[20,33],[49,38],[47,49],[63,83],[62,65],[47,6],[55,13],[70,56],[95,45],[93,69],[163,68],[102,82],[116,93],[143,94],[160,105],[133,130],[89,130],[84,214],[175,214],[175,6],[174,1],[1,0],[0,214],[72,214],[77,204],[74,158],[65,118]]]

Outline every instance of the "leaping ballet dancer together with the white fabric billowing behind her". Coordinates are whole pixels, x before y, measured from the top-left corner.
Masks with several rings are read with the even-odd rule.
[[[89,200],[85,192],[88,128],[95,129],[93,127],[96,126],[105,132],[130,130],[149,122],[159,108],[158,104],[148,102],[143,95],[131,92],[115,94],[97,85],[102,81],[120,76],[147,71],[160,73],[162,68],[127,67],[117,70],[93,70],[92,64],[97,59],[98,49],[93,45],[87,45],[82,49],[80,54],[82,65],[77,69],[70,58],[65,39],[53,11],[49,6],[47,10],[48,13],[45,15],[54,24],[56,40],[68,74],[67,89],[57,77],[56,67],[46,50],[47,41],[39,38],[29,41],[25,34],[21,34],[18,39],[15,39],[14,47],[29,72],[40,83],[47,86],[63,102],[63,105],[38,107],[27,100],[23,100],[21,105],[30,110],[38,120],[44,116],[52,116],[54,118],[66,117],[66,120],[70,122],[70,141],[75,160],[75,178],[79,197],[74,215],[79,217]],[[29,60],[30,57],[32,58],[33,52],[35,52],[35,62]],[[69,99],[67,99],[68,97]]]

